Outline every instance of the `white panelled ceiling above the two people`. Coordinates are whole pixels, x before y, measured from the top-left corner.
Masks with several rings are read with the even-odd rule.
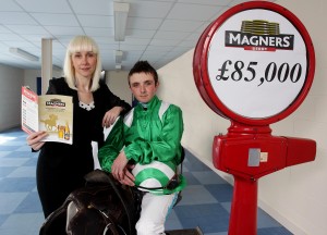
[[[119,0],[117,0],[119,1]],[[193,49],[202,32],[241,0],[125,0],[130,3],[124,41],[114,41],[113,0],[5,0],[0,8],[0,64],[41,69],[41,39],[52,39],[52,63],[62,67],[75,35],[99,45],[105,70],[116,70],[114,50],[123,51],[122,70],[138,60],[159,69]],[[11,47],[39,57],[28,61]]]

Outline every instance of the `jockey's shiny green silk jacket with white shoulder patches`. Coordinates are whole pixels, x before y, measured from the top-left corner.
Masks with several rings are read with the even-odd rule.
[[[137,103],[124,119],[120,118],[98,158],[102,170],[111,172],[111,165],[120,151],[128,160],[148,164],[152,161],[181,163],[183,118],[179,107],[164,102],[155,96],[145,109]]]

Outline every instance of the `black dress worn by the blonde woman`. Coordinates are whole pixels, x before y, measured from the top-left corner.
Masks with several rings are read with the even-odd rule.
[[[73,144],[46,143],[37,163],[37,188],[45,217],[60,207],[66,196],[84,186],[84,175],[94,170],[92,141],[104,144],[102,118],[113,107],[126,113],[131,107],[113,95],[105,83],[93,92],[95,108],[80,107],[77,90],[71,89],[64,78],[49,82],[47,94],[73,97]]]

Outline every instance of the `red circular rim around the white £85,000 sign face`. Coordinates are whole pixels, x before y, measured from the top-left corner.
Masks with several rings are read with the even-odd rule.
[[[269,118],[264,119],[250,119],[242,116],[238,113],[232,112],[228,107],[226,107],[217,97],[214,88],[211,87],[211,83],[209,79],[208,71],[207,71],[207,58],[208,58],[208,50],[210,46],[210,41],[216,33],[216,30],[232,15],[246,11],[252,9],[264,9],[264,10],[270,10],[275,11],[282,16],[284,16],[287,20],[289,20],[290,23],[293,24],[293,26],[299,30],[301,34],[305,47],[306,47],[306,54],[307,54],[307,74],[305,78],[305,83],[299,92],[299,96],[295,98],[295,100],[283,111],[281,111],[278,114],[275,114]],[[194,74],[194,81],[196,84],[196,87],[203,98],[203,100],[207,103],[207,106],[226,119],[231,119],[233,121],[249,124],[249,125],[268,125],[275,122],[278,122],[288,115],[290,115],[292,112],[294,112],[299,106],[303,102],[306,95],[308,94],[308,90],[311,88],[311,85],[314,79],[314,73],[315,73],[315,51],[314,46],[312,42],[312,39],[305,28],[305,26],[302,24],[302,22],[289,10],[286,8],[278,5],[272,2],[266,2],[266,1],[251,1],[241,3],[238,5],[234,5],[233,8],[226,11],[222,15],[220,15],[216,21],[214,21],[201,35],[197,45],[194,50],[193,55],[193,74]]]

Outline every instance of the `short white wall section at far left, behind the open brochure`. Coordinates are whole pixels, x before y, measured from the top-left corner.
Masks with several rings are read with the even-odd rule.
[[[0,64],[0,132],[21,123],[23,77],[23,70]]]

